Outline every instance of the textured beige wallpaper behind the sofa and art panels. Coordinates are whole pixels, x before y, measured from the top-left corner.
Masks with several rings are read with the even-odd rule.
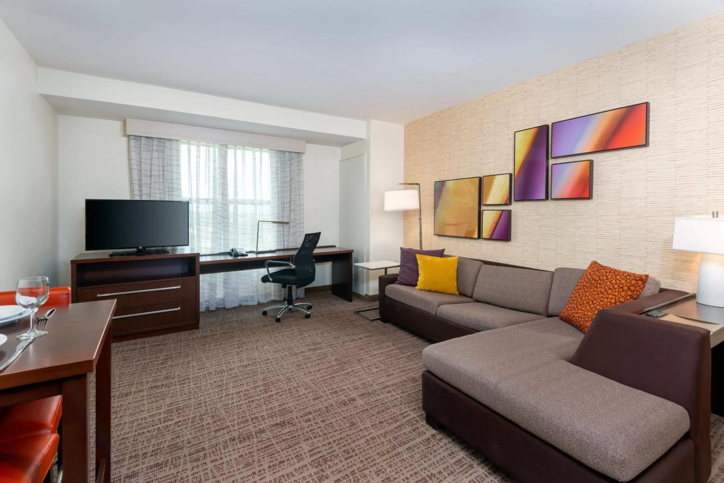
[[[513,172],[516,130],[643,101],[648,147],[551,160],[594,159],[594,199],[513,202],[510,242],[433,235],[434,181]],[[724,14],[409,123],[405,181],[422,185],[424,248],[542,269],[597,260],[696,290],[699,255],[671,250],[673,217],[724,211]]]

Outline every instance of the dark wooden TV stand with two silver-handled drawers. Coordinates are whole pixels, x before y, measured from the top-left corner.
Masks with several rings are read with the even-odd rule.
[[[72,302],[115,298],[114,342],[198,329],[198,253],[110,257],[81,253],[70,261]]]

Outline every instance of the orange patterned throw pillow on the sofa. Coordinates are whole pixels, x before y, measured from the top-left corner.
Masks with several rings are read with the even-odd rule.
[[[624,272],[592,261],[560,311],[560,318],[587,332],[599,310],[635,301],[648,281],[648,275]]]

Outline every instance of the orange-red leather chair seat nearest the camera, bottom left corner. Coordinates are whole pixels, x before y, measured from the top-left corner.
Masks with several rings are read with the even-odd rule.
[[[41,483],[58,452],[58,434],[0,443],[0,483]]]

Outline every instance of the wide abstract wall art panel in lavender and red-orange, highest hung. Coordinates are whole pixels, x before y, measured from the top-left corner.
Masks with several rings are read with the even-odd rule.
[[[649,103],[554,122],[551,157],[649,145]]]

